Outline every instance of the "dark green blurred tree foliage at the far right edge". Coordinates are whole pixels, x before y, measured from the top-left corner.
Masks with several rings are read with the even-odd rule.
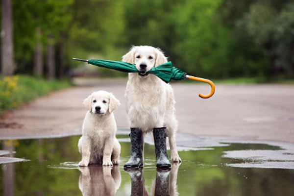
[[[243,15],[234,20],[222,15],[235,24],[238,40],[247,40],[247,46],[253,49],[248,57],[254,60],[250,70],[257,75],[268,79],[294,76],[293,10],[289,0],[265,0],[250,2],[246,9],[241,9]]]

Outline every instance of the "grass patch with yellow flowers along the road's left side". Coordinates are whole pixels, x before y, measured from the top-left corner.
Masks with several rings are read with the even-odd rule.
[[[14,109],[51,91],[71,86],[68,80],[45,80],[27,75],[0,78],[0,114]]]

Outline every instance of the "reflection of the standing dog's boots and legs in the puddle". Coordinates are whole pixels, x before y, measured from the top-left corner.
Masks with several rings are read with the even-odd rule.
[[[172,169],[157,169],[150,195],[145,186],[143,168],[125,169],[131,177],[131,196],[178,196],[176,179],[179,166],[180,164],[173,164]]]

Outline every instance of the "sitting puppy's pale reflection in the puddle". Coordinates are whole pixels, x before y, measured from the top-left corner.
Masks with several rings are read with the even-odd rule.
[[[122,177],[117,166],[90,166],[79,170],[78,187],[83,196],[115,196],[121,186]]]

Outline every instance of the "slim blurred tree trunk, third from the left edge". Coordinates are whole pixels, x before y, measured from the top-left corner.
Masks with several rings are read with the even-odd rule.
[[[52,36],[48,36],[47,71],[48,71],[48,79],[54,79],[54,75],[55,75],[55,59],[54,59],[54,45],[53,45]]]

